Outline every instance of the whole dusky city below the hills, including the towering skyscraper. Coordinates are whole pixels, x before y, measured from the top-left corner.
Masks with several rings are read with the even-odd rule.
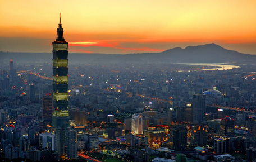
[[[254,161],[255,65],[0,65],[4,161]]]

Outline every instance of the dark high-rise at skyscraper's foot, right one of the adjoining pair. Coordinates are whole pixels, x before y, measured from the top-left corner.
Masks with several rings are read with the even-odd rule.
[[[66,131],[67,157],[76,159],[77,157],[77,130]]]

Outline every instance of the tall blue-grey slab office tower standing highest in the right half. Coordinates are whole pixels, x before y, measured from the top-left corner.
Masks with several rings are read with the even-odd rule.
[[[193,94],[193,124],[205,123],[205,94]]]

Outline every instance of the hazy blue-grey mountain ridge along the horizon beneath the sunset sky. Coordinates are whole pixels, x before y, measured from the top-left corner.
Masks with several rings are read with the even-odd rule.
[[[17,60],[24,63],[51,63],[51,53],[0,52],[0,59]],[[216,44],[176,47],[161,53],[138,54],[68,54],[70,63],[255,63],[256,55],[227,50]]]

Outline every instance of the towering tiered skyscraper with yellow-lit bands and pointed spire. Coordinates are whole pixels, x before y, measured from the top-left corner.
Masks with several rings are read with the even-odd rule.
[[[68,42],[63,38],[63,28],[60,23],[57,28],[58,37],[53,46],[53,117],[52,127],[69,128],[68,116]]]

